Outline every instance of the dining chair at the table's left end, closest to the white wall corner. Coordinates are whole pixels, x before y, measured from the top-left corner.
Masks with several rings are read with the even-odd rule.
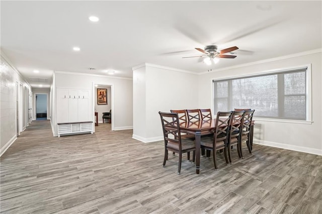
[[[168,160],[168,150],[179,154],[178,174],[181,171],[182,154],[193,152],[193,159],[195,157],[196,146],[195,141],[191,139],[181,138],[181,130],[179,125],[179,117],[177,113],[159,112],[163,135],[165,140],[165,157],[163,167],[166,166]],[[194,161],[194,160],[193,160]]]

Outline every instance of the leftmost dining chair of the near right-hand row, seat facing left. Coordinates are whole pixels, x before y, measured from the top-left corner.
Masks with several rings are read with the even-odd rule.
[[[231,112],[218,112],[216,121],[215,121],[215,131],[213,137],[205,137],[201,138],[200,146],[207,150],[207,156],[210,151],[213,151],[213,164],[215,169],[217,170],[217,162],[216,162],[216,151],[222,150],[224,152],[225,161],[227,164],[227,137],[228,137],[228,130],[231,118]],[[209,152],[208,152],[209,151]]]

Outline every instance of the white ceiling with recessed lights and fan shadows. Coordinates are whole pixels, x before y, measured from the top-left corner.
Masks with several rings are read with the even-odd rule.
[[[53,71],[132,77],[142,63],[202,73],[321,48],[321,3],[1,1],[1,49],[32,87],[49,87]],[[239,47],[237,57],[211,66],[182,58],[212,44]]]

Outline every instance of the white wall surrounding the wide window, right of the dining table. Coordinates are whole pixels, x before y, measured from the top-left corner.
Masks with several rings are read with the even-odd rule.
[[[256,74],[261,71],[311,64],[312,124],[265,122],[256,119],[254,143],[322,155],[321,52],[315,51],[267,60],[199,76],[199,106],[212,106],[212,79]]]

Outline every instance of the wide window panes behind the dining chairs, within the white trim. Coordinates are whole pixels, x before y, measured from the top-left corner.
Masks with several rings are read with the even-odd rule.
[[[213,80],[214,112],[255,109],[255,116],[307,119],[307,67]]]

